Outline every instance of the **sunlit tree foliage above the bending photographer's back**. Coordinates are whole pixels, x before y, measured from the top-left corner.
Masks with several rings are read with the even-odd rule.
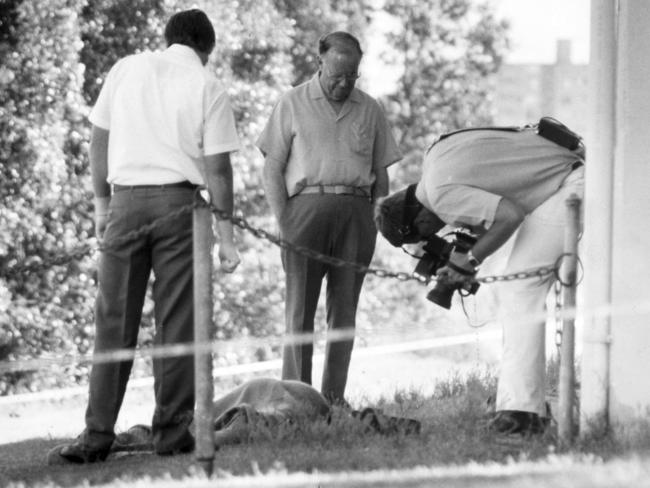
[[[401,26],[385,61],[400,70],[386,97],[405,154],[400,180],[416,181],[422,151],[451,130],[492,122],[489,77],[507,48],[507,23],[473,0],[387,0]]]

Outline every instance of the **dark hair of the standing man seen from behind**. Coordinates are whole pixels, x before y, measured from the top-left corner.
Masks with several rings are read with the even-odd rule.
[[[212,52],[216,43],[212,22],[197,8],[172,15],[165,26],[165,40],[167,46],[184,44],[206,54]]]

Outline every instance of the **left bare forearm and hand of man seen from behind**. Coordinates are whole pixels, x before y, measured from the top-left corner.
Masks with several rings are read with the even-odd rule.
[[[106,229],[111,186],[108,184],[108,137],[109,131],[96,125],[90,134],[90,175],[95,203],[95,236],[101,239]]]

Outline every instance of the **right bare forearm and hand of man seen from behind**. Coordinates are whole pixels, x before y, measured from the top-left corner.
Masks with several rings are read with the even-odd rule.
[[[233,211],[233,183],[230,153],[219,153],[205,156],[206,185],[213,206],[224,212],[226,216]],[[221,268],[230,273],[239,264],[239,254],[235,247],[232,222],[225,216],[217,216],[217,232],[219,233],[219,259]]]

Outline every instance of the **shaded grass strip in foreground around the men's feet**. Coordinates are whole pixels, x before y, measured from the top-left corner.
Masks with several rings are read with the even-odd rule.
[[[247,441],[217,451],[217,476],[242,476],[270,472],[320,472],[404,470],[421,466],[535,461],[549,454],[593,453],[603,459],[650,446],[650,427],[637,428],[637,441],[620,443],[611,435],[585,439],[570,450],[556,447],[555,425],[535,438],[504,438],[487,429],[486,398],[494,394],[491,374],[452,376],[430,396],[398,391],[373,407],[388,415],[421,421],[419,435],[382,435],[369,432],[349,411],[335,408],[331,422],[299,422],[286,429],[251,434]],[[194,455],[160,457],[138,453],[111,455],[104,463],[47,466],[47,451],[69,439],[32,439],[0,445],[0,486],[11,482],[25,486],[89,486],[121,480],[203,478]],[[124,483],[127,481],[127,483]],[[216,481],[218,483],[218,480]],[[140,483],[142,485],[142,483]]]

